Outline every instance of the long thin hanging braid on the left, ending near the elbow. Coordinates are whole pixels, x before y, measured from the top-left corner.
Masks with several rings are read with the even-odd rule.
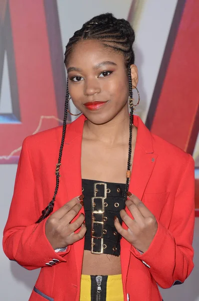
[[[56,165],[56,186],[55,186],[55,192],[52,201],[48,204],[48,206],[42,211],[42,215],[38,219],[36,223],[40,223],[42,220],[44,220],[46,217],[48,217],[54,208],[55,198],[59,189],[59,183],[60,183],[60,166],[61,166],[61,160],[62,160],[62,152],[64,147],[64,139],[66,134],[66,121],[67,121],[67,113],[68,113],[68,102],[69,102],[69,89],[68,89],[68,78],[67,78],[67,89],[66,89],[66,100],[65,100],[65,108],[64,108],[64,120],[63,120],[63,130],[62,130],[62,139],[61,139],[61,145],[60,145],[60,152],[59,152],[59,158],[58,163]]]

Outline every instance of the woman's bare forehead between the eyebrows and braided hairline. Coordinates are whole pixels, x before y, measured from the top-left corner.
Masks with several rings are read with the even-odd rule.
[[[113,61],[117,65],[124,65],[123,54],[111,47],[105,47],[97,40],[83,40],[73,46],[72,52],[67,60],[67,68],[71,66],[88,67],[102,61]],[[78,66],[77,66],[78,65]]]

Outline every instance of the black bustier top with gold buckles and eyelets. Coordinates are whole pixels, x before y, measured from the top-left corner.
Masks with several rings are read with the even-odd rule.
[[[125,208],[125,184],[82,179],[85,210],[85,250],[94,254],[120,255],[121,235],[114,226],[114,216],[122,223]]]

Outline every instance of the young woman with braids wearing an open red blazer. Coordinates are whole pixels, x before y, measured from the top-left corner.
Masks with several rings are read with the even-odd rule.
[[[193,268],[193,160],[133,116],[133,42],[111,14],[75,32],[64,124],[23,143],[4,250],[41,267],[31,301],[160,301]]]

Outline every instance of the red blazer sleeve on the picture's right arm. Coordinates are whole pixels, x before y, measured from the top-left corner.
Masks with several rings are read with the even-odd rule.
[[[157,222],[158,229],[148,250],[140,254],[132,246],[131,252],[149,268],[159,286],[169,288],[183,283],[193,269],[194,161],[190,155],[175,194],[168,229]]]

